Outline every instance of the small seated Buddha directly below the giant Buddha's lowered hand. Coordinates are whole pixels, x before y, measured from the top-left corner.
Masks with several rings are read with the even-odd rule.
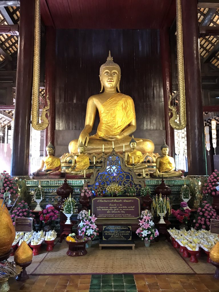
[[[72,166],[66,170],[67,174],[72,175],[83,175],[84,171],[85,174],[92,173],[92,169],[89,169],[90,166],[90,160],[87,154],[84,154],[84,145],[82,142],[80,142],[78,146],[78,154],[75,155],[72,159]]]

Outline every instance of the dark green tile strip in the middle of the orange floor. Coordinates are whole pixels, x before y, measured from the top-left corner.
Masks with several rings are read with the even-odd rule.
[[[91,276],[89,292],[137,292],[132,274],[97,274]]]

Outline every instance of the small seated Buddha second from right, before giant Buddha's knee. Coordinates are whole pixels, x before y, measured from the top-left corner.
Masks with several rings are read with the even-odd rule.
[[[144,159],[143,159],[142,153],[136,149],[137,142],[135,141],[133,135],[132,135],[131,141],[129,142],[129,145],[130,145],[131,151],[126,152],[126,154],[125,154],[126,164],[128,167],[133,168],[134,172],[136,174],[138,174],[138,173],[142,174],[143,169],[145,169],[145,170],[147,169],[147,165],[144,164]]]

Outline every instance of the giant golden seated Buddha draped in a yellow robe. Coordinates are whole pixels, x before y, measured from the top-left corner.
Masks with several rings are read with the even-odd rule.
[[[78,145],[85,145],[85,152],[100,153],[103,145],[105,153],[112,151],[112,142],[117,152],[129,150],[131,135],[136,130],[135,107],[132,98],[119,90],[121,69],[113,62],[110,55],[105,64],[100,67],[101,91],[92,95],[87,102],[87,111],[84,129],[78,140],[69,143],[69,152],[76,153]],[[117,92],[118,90],[118,92]],[[93,129],[96,111],[99,112],[100,124],[97,133],[89,136]],[[139,151],[142,153],[153,153],[154,143],[147,139],[136,139]]]

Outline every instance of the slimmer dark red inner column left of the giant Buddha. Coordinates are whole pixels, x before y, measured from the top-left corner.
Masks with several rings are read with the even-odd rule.
[[[55,143],[55,29],[46,27],[45,102],[50,101],[49,125],[45,129],[44,151],[51,141]]]

